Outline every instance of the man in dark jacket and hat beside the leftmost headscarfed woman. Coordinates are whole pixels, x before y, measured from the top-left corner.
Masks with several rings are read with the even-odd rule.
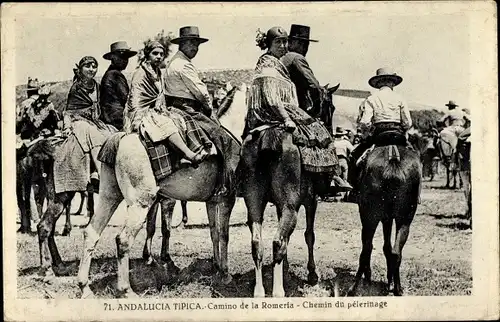
[[[123,110],[129,93],[127,79],[122,72],[127,68],[130,57],[135,56],[137,52],[130,50],[125,41],[117,41],[110,47],[109,53],[103,56],[104,59],[111,60],[111,65],[101,80],[101,119],[121,131]]]

